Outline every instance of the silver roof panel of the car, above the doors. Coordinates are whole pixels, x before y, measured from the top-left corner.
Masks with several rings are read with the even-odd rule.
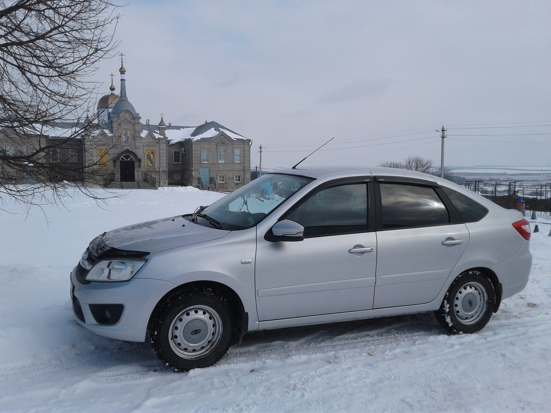
[[[300,175],[309,178],[323,178],[331,175],[339,176],[358,176],[358,175],[373,175],[373,176],[401,176],[407,178],[417,178],[425,181],[435,182],[434,176],[428,173],[409,171],[407,169],[384,168],[381,166],[374,167],[354,167],[354,166],[334,166],[323,168],[308,168],[298,167],[296,169],[285,168],[277,169],[267,173],[287,173],[289,175]]]

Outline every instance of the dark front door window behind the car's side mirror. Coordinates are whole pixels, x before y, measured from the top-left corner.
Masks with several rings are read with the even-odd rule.
[[[345,184],[323,189],[308,198],[286,219],[304,226],[304,237],[368,230],[368,186]]]

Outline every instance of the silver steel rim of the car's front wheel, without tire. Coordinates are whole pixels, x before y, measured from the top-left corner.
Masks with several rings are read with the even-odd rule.
[[[187,360],[212,352],[222,338],[222,319],[207,306],[191,306],[181,311],[169,329],[172,351]]]

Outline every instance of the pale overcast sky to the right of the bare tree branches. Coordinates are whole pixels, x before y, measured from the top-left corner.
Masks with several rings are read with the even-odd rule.
[[[446,165],[551,165],[551,2],[133,1],[121,12],[142,122],[217,121],[253,139],[252,166],[258,145],[264,167],[291,166],[332,137],[304,165],[421,155],[439,166],[442,125]],[[106,93],[119,67],[102,63]]]

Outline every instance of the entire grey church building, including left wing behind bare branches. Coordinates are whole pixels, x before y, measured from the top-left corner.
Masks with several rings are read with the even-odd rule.
[[[128,100],[126,69],[121,56],[120,94],[115,94],[111,78],[110,93],[102,96],[96,108],[97,123],[92,123],[78,137],[65,142],[63,136],[81,128],[83,123],[48,124],[36,128],[36,145],[40,142],[62,142],[51,151],[48,162],[52,170],[68,160],[82,164],[83,173],[47,177],[0,176],[4,182],[25,183],[40,180],[84,181],[109,188],[156,188],[160,186],[193,186],[222,192],[235,191],[250,182],[251,139],[231,131],[217,122],[205,122],[197,127],[165,123],[158,124],[142,117]],[[88,121],[88,119],[87,119]],[[50,131],[44,137],[44,130]],[[0,148],[11,153],[33,153],[26,139],[22,148],[0,131]],[[4,137],[4,139],[3,139]],[[26,148],[23,147],[26,145]],[[9,146],[9,147],[8,147]],[[32,146],[32,144],[31,144]],[[67,146],[67,148],[65,148]],[[69,148],[69,146],[71,148]],[[62,170],[62,168],[61,168]],[[6,181],[8,180],[8,181]]]

